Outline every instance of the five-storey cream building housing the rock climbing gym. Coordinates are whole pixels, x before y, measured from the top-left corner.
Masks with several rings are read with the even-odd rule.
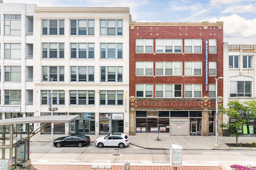
[[[37,7],[34,19],[35,116],[51,114],[49,76],[53,114],[79,115],[54,134],[129,134],[129,8]]]

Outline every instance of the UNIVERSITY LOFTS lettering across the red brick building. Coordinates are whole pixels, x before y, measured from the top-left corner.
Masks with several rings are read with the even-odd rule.
[[[201,106],[201,102],[138,102],[139,106]]]

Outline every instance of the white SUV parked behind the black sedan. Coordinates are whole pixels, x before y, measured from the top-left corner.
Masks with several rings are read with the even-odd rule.
[[[95,145],[98,147],[103,146],[119,146],[123,148],[129,144],[129,139],[123,133],[111,133],[108,136],[102,136],[96,139]]]

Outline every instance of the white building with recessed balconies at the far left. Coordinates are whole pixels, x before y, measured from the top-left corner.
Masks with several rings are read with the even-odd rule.
[[[0,119],[33,116],[35,4],[0,3]],[[30,124],[30,131],[33,124]],[[27,131],[24,127],[22,131]]]

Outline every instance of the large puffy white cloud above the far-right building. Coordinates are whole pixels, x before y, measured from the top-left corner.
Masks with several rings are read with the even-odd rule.
[[[246,20],[237,14],[233,14],[231,16],[220,17],[219,19],[212,18],[209,20],[209,22],[216,21],[223,21],[223,36],[226,38],[256,38],[256,19]]]

